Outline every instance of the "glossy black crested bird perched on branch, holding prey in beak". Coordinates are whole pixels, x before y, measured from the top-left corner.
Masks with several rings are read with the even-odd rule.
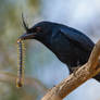
[[[53,22],[40,22],[28,28],[23,18],[23,24],[26,33],[20,38],[43,43],[68,66],[71,73],[88,61],[95,43],[82,32]],[[100,74],[93,78],[100,80]]]

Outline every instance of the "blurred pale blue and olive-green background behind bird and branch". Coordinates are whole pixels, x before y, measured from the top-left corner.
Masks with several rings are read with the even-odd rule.
[[[67,67],[50,50],[27,40],[25,85],[16,88],[16,40],[25,32],[22,12],[29,27],[52,21],[85,33],[95,42],[100,39],[100,0],[0,0],[0,100],[40,100],[48,88],[68,75]],[[100,83],[89,79],[65,100],[100,100]]]

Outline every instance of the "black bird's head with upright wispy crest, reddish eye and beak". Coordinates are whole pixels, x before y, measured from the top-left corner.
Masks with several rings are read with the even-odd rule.
[[[23,26],[25,28],[25,34],[20,37],[20,39],[22,40],[43,39],[50,33],[50,29],[52,27],[51,22],[40,22],[34,25],[33,27],[28,28],[24,21],[24,17],[22,20]]]

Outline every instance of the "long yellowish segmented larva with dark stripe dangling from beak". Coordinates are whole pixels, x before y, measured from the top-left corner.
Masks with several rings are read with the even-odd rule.
[[[23,40],[17,40],[17,79],[16,87],[22,87],[24,84],[24,55],[25,46]]]

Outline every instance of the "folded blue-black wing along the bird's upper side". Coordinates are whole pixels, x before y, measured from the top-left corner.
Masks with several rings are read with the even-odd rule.
[[[79,46],[82,49],[86,51],[91,51],[95,43],[83,33],[71,28],[60,28],[61,34],[63,34],[67,39],[73,41],[75,45]]]

